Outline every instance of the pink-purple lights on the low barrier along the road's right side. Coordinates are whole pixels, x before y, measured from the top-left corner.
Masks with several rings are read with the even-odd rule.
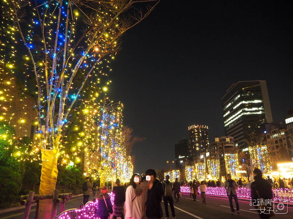
[[[189,187],[181,186],[181,192],[189,193]],[[293,202],[293,190],[292,189],[272,189],[273,191],[273,200],[287,200]],[[198,189],[200,193],[200,190]],[[227,192],[224,187],[207,187],[205,193],[207,195],[215,195],[215,196],[227,196]],[[239,198],[247,198],[251,199],[251,190],[250,188],[239,188],[237,189],[237,196]]]

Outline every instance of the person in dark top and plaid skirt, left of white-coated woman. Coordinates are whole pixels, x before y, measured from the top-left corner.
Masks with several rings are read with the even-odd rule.
[[[120,180],[117,179],[113,187],[114,197],[114,205],[113,205],[113,219],[117,219],[117,217],[124,218],[124,202],[125,202],[125,189],[122,184],[120,184]]]

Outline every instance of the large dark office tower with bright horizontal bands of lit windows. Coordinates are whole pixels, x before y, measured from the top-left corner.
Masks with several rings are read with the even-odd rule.
[[[241,150],[248,150],[248,134],[262,134],[262,123],[273,122],[265,81],[239,81],[227,90],[222,102],[226,135]]]

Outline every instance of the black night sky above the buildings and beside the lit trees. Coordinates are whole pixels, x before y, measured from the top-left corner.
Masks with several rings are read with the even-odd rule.
[[[265,80],[274,122],[285,122],[292,23],[293,1],[161,0],[129,30],[108,95],[124,104],[124,125],[145,138],[133,147],[134,172],[168,168],[189,125],[207,125],[210,142],[225,135],[221,98],[238,81]]]

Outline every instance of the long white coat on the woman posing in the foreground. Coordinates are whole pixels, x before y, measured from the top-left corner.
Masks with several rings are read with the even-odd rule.
[[[138,186],[136,186],[138,187]],[[135,193],[133,186],[128,186],[126,189],[125,219],[132,217],[133,219],[141,218],[141,193],[139,196]],[[132,201],[133,200],[133,201]]]

